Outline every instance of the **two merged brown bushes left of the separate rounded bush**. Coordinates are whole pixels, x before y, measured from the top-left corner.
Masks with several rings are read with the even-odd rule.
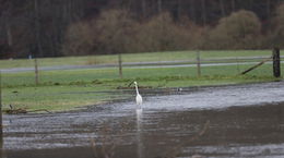
[[[138,23],[125,10],[106,10],[95,20],[70,25],[63,52],[76,56],[196,49],[205,41],[204,31],[187,17],[174,22],[169,13]]]

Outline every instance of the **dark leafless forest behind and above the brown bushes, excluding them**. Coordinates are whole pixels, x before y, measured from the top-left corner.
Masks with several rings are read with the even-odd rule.
[[[174,22],[180,22],[186,15],[208,27],[216,24],[220,17],[246,9],[253,11],[267,26],[263,28],[268,28],[269,20],[277,14],[274,9],[282,2],[284,0],[0,0],[0,52],[1,56],[9,52],[5,58],[26,57],[27,48],[34,45],[40,57],[66,54],[62,47],[69,42],[64,41],[69,40],[66,38],[69,25],[98,17],[104,9],[127,10],[139,23],[168,12]],[[280,28],[280,25],[272,25]],[[280,29],[272,31],[276,36],[275,31]],[[102,47],[92,49],[98,52]]]

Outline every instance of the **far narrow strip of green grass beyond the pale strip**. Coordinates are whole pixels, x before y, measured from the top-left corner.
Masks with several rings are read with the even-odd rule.
[[[256,57],[271,56],[271,50],[211,50],[200,51],[201,59],[221,58],[221,57]],[[122,54],[123,62],[146,62],[146,61],[177,61],[177,60],[194,60],[197,51],[166,51],[166,52],[144,52],[144,53],[127,53]],[[40,58],[39,66],[55,65],[90,65],[117,63],[116,54],[108,56],[84,56],[84,57],[63,57],[63,58]],[[15,59],[0,60],[0,69],[9,68],[31,68],[34,66],[34,60]]]

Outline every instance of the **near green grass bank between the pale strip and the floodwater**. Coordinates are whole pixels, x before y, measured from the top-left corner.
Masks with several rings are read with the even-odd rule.
[[[249,75],[237,75],[249,66],[204,66],[200,77],[196,68],[123,69],[123,78],[119,78],[117,69],[43,71],[39,72],[40,84],[37,86],[34,85],[33,72],[5,73],[2,74],[3,108],[13,105],[27,110],[62,111],[134,98],[118,88],[127,87],[132,81],[150,88],[275,81],[271,64],[262,65]]]

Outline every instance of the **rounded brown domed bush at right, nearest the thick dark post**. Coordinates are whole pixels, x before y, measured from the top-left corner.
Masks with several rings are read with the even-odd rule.
[[[240,10],[220,20],[210,32],[213,49],[256,49],[261,44],[261,23],[253,12]]]

